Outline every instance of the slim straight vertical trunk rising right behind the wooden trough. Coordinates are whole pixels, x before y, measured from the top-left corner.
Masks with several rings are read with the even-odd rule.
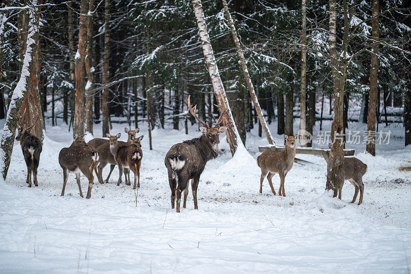
[[[305,50],[305,47],[307,46],[307,34],[306,34],[306,0],[301,1],[301,9],[302,9],[302,34],[301,34],[301,44],[302,44],[302,50],[301,50],[301,95],[300,95],[300,134],[305,134],[305,131],[307,129],[307,121],[306,121],[306,103],[307,103],[307,52]],[[305,142],[301,142],[302,139],[300,136],[298,136],[298,139],[300,139],[300,145],[302,147],[307,146]]]

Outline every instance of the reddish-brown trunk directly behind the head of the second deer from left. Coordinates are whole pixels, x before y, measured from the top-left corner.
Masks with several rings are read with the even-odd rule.
[[[76,72],[76,110],[74,112],[73,133],[84,134],[84,61],[87,41],[87,0],[81,0],[79,19],[79,46],[74,56],[74,71]]]

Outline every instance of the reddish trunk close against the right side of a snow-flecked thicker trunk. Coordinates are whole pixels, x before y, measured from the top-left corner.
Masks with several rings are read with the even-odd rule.
[[[93,97],[94,97],[94,68],[92,67],[92,45],[93,45],[93,9],[94,0],[89,0],[87,14],[87,46],[85,66],[87,73],[86,90],[86,132],[93,133]]]

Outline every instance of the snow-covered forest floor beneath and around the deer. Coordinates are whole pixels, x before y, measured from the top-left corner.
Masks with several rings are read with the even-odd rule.
[[[323,127],[330,128],[329,123]],[[296,120],[295,132],[298,124]],[[126,140],[127,125],[113,126],[111,133],[121,132]],[[101,126],[95,128],[95,136],[101,136]],[[181,213],[171,209],[164,155],[173,144],[200,133],[196,126],[189,135],[155,129],[150,151],[147,127],[140,128],[145,137],[137,206],[132,187],[116,185],[117,168],[108,184],[95,179],[89,200],[80,197],[70,174],[66,195],[60,197],[58,154],[71,143],[61,120],[59,126],[47,127],[38,187],[27,187],[20,143],[15,143],[7,181],[0,182],[0,272],[409,273],[411,172],[398,168],[411,166],[411,148],[403,148],[401,125],[384,129],[380,124],[393,134],[389,145],[377,146],[376,157],[363,153],[364,144],[348,145],[368,165],[360,206],[348,203],[354,193],[348,182],[342,201],[324,194],[325,161],[314,155],[297,154],[313,164],[294,164],[286,177],[287,197],[274,196],[267,180],[259,194],[254,159],[258,145],[267,143],[253,130],[246,147],[254,159],[232,159],[221,135],[222,151],[201,175],[199,210],[193,209],[190,190]],[[270,128],[276,132],[275,123]],[[350,128],[364,130],[365,125]],[[283,144],[282,136],[275,139]],[[277,190],[278,175],[273,183]],[[82,184],[86,192],[84,177]]]

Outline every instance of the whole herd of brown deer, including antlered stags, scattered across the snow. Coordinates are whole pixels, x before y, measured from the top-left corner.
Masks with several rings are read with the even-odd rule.
[[[222,122],[222,116],[225,114],[225,103],[222,101],[224,108],[217,106],[220,109],[220,116],[214,127],[210,127],[206,122],[200,120],[196,115],[196,107],[191,106],[190,96],[188,98],[188,107],[193,117],[203,126],[200,126],[201,136],[192,140],[186,140],[182,143],[173,145],[165,155],[164,164],[167,168],[169,184],[171,189],[171,207],[176,208],[180,212],[181,193],[183,192],[183,208],[186,207],[187,195],[189,193],[189,181],[191,180],[191,189],[194,199],[194,208],[198,209],[197,205],[197,187],[200,181],[200,175],[204,170],[207,162],[218,156],[219,134],[227,130],[226,126],[219,126]],[[37,121],[37,120],[36,120]],[[35,122],[36,122],[35,121]],[[40,154],[42,152],[42,142],[31,134],[31,129],[35,122],[29,126],[22,125],[18,128],[16,140],[20,141],[24,160],[27,165],[27,180],[26,183],[31,187],[31,173],[33,174],[34,185],[38,186],[37,169],[40,162]],[[63,169],[63,189],[61,195],[64,196],[68,174],[76,174],[77,184],[79,186],[80,196],[83,197],[80,185],[80,173],[88,179],[88,190],[86,198],[91,197],[91,189],[94,184],[94,175],[96,173],[100,184],[104,184],[102,171],[103,168],[110,164],[110,171],[105,183],[108,183],[111,172],[116,165],[119,168],[119,179],[117,185],[122,182],[124,174],[125,184],[131,185],[130,170],[134,173],[133,189],[140,187],[140,168],[143,152],[141,150],[141,140],[143,135],[136,138],[136,133],[139,129],[129,130],[124,129],[128,134],[127,142],[119,141],[121,133],[117,135],[106,134],[108,139],[95,138],[86,142],[84,135],[74,134],[74,140],[67,148],[63,148],[59,154],[59,164]],[[263,181],[267,177],[271,191],[275,195],[271,179],[274,174],[278,174],[280,185],[278,195],[285,196],[285,177],[291,170],[295,158],[295,136],[284,135],[285,150],[272,151],[268,150],[261,153],[257,157],[257,165],[261,169],[260,189],[259,193],[263,193]],[[331,144],[330,144],[331,145]],[[331,146],[330,146],[331,148]],[[327,172],[330,172],[329,163],[333,160],[332,150],[330,151],[327,162]],[[348,180],[355,188],[354,197],[351,203],[357,200],[358,192],[360,191],[359,205],[363,201],[364,183],[362,177],[367,171],[367,165],[357,158],[344,158],[343,169],[341,173],[341,185],[337,187],[338,198],[341,200],[341,190],[345,180]]]

